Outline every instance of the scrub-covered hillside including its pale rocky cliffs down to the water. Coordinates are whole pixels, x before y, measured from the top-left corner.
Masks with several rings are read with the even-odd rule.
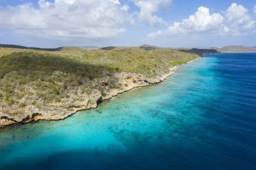
[[[9,46],[10,47],[10,46]],[[103,99],[159,83],[196,54],[170,49],[0,48],[0,126],[59,120]]]

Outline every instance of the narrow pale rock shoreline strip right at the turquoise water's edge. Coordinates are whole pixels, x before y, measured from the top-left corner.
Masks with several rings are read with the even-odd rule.
[[[195,60],[198,60],[199,58],[195,58],[194,60],[191,60],[189,62],[193,62]],[[182,65],[186,65],[189,62],[182,64]],[[126,91],[131,91],[137,87],[146,87],[149,85],[154,85],[154,84],[158,84],[161,83],[162,81],[166,80],[168,77],[170,77],[175,70],[177,70],[179,67],[175,66],[175,67],[170,67],[168,73],[161,75],[160,77],[156,77],[156,78],[146,78],[146,77],[141,77],[141,75],[137,75],[138,77],[140,77],[142,79],[141,83],[131,83],[129,84],[127,87],[124,87],[123,89],[112,89],[110,91],[110,93],[108,93],[108,95],[102,97],[102,95],[100,95],[98,97],[98,99],[95,101],[95,103],[93,105],[88,105],[87,102],[87,106],[86,107],[73,107],[73,111],[71,112],[67,112],[66,114],[63,115],[57,115],[57,116],[53,116],[53,115],[42,115],[39,113],[34,113],[34,114],[30,114],[28,115],[26,118],[23,118],[22,121],[17,121],[14,118],[8,118],[7,116],[2,116],[0,118],[0,128],[5,128],[7,126],[12,126],[15,124],[28,124],[28,123],[32,123],[32,122],[39,122],[40,120],[65,120],[65,118],[68,118],[69,116],[72,116],[73,114],[76,114],[79,111],[83,111],[83,110],[90,110],[92,108],[97,108],[98,105],[100,103],[102,103],[105,100],[108,99],[112,99],[113,97],[121,94],[121,93],[125,93]],[[121,73],[120,75],[126,75],[127,77],[129,77],[130,75],[135,75],[135,73]],[[120,80],[122,81],[122,79]],[[63,108],[64,111],[65,108]]]

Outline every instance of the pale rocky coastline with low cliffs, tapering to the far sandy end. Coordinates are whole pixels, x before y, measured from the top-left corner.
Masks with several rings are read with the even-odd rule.
[[[199,58],[195,58],[194,60],[198,60],[198,59]],[[193,62],[194,60],[191,60],[189,62]],[[168,70],[168,73],[160,75],[156,78],[148,78],[143,75],[139,75],[135,73],[119,73],[116,75],[116,77],[118,77],[119,82],[121,82],[123,85],[121,89],[111,89],[110,92],[107,93],[105,96],[102,96],[100,91],[95,91],[91,99],[85,99],[83,101],[83,105],[80,105],[81,103],[79,103],[78,105],[74,105],[71,111],[67,110],[69,108],[57,108],[56,106],[57,114],[53,114],[53,113],[49,114],[49,112],[46,112],[46,113],[39,112],[39,113],[29,114],[25,118],[20,118],[20,117],[9,118],[7,116],[1,116],[0,128],[3,128],[5,126],[11,126],[13,124],[27,124],[31,122],[38,122],[40,120],[64,120],[65,118],[68,118],[69,116],[72,116],[73,114],[76,114],[79,111],[97,108],[98,104],[102,103],[102,101],[111,99],[121,93],[125,93],[126,91],[131,91],[132,89],[135,89],[137,87],[145,87],[148,85],[161,83],[162,81],[170,77],[176,69],[177,69],[176,66],[170,67]],[[135,82],[134,82],[134,79],[136,79]],[[63,113],[59,114],[59,110],[61,109],[63,110]]]

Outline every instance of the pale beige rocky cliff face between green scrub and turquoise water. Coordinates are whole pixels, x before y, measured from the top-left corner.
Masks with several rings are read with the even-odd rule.
[[[19,114],[11,113],[11,108],[0,110],[0,127],[10,124],[26,124],[38,120],[62,120],[75,114],[79,110],[87,110],[96,108],[105,99],[110,99],[119,93],[129,91],[135,87],[143,87],[153,83],[160,83],[167,77],[172,75],[174,68],[166,71],[166,74],[158,77],[149,78],[144,75],[135,73],[117,73],[115,78],[120,85],[119,88],[108,86],[108,79],[100,79],[101,89],[92,89],[91,93],[77,93],[77,91],[69,91],[70,97],[68,99],[61,99],[60,102],[53,102],[47,105],[42,103],[40,108],[35,105],[26,105],[25,108],[17,108]],[[24,98],[24,100],[26,100]],[[40,101],[38,101],[40,103]]]

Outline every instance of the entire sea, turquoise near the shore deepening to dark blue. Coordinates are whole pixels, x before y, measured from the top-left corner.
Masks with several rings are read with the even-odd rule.
[[[97,109],[2,128],[0,169],[256,169],[256,53],[207,55]]]

